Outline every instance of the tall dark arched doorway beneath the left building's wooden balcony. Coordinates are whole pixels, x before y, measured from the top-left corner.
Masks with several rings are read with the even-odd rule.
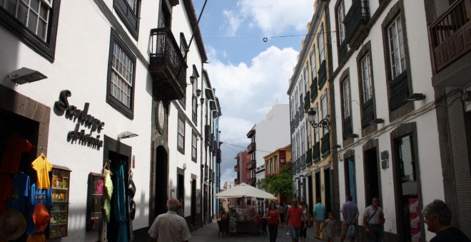
[[[156,206],[157,217],[159,214],[167,212],[167,199],[168,199],[168,158],[166,149],[159,146],[156,150],[156,199],[154,200]]]

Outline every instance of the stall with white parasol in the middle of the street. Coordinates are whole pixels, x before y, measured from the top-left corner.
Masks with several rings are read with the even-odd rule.
[[[248,184],[242,183],[226,191],[221,191],[214,196],[219,198],[243,198],[255,197],[262,199],[276,199],[275,196]],[[256,205],[237,205],[229,208],[228,220],[218,221],[218,226],[226,228],[227,233],[233,235],[238,233],[263,233],[263,214],[256,212]]]

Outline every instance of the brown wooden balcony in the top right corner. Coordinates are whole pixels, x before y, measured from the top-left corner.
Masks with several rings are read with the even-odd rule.
[[[466,1],[455,1],[428,27],[434,74],[471,49],[471,4]]]

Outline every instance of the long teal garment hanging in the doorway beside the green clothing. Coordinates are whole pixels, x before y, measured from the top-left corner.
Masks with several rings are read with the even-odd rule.
[[[124,242],[128,241],[128,227],[126,226],[126,221],[128,221],[126,216],[126,184],[124,182],[126,163],[120,162],[118,164],[118,169],[116,172],[113,172],[113,181],[115,186],[113,187],[114,194],[114,216],[116,221],[118,221],[118,237],[116,241]]]

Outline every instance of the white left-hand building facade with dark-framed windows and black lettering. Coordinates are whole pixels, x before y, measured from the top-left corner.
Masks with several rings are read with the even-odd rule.
[[[0,42],[8,57],[0,66],[1,140],[19,136],[31,143],[19,165],[31,184],[29,163],[41,153],[53,169],[71,171],[65,226],[51,222],[46,237],[146,240],[169,197],[182,199],[192,229],[209,221],[216,149],[206,140],[215,140],[218,125],[208,131],[204,125],[221,112],[203,75],[207,57],[190,0],[1,1]],[[47,78],[31,80],[38,79],[34,70]],[[205,174],[205,162],[212,174]],[[105,164],[114,187],[124,184],[113,190],[110,223],[97,215],[102,205],[96,215],[90,211],[93,201],[103,201],[89,179],[99,179]],[[133,192],[126,189],[131,179]],[[118,196],[122,211],[113,205]]]

